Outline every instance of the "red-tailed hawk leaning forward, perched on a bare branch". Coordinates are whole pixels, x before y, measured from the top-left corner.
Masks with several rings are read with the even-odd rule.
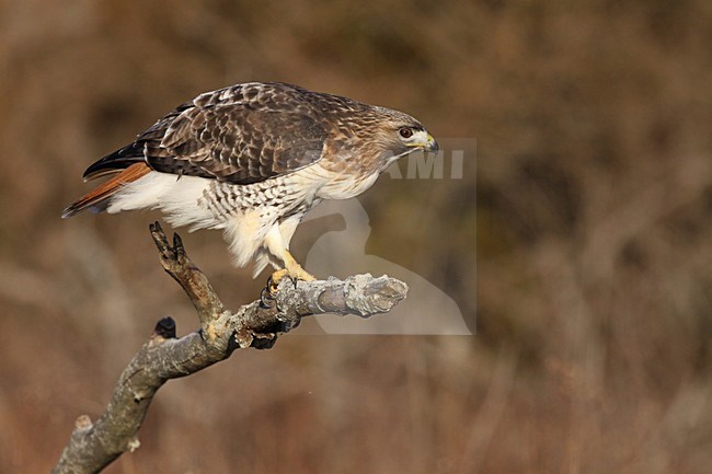
[[[242,267],[269,263],[313,277],[289,253],[305,213],[322,199],[368,189],[393,161],[437,143],[410,115],[284,83],[206,92],[99,160],[84,180],[112,175],[62,213],[160,209],[172,226],[222,229]]]

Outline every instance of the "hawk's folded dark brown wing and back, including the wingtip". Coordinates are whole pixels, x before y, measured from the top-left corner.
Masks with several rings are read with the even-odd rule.
[[[143,162],[176,175],[251,184],[322,157],[328,119],[310,91],[282,83],[239,84],[199,95],[92,164],[90,180]]]

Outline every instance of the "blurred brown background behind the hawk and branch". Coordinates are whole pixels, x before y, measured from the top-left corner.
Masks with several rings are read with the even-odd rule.
[[[251,80],[476,138],[476,173],[361,199],[367,251],[472,331],[476,312],[476,335],[297,330],[170,382],[107,472],[705,471],[711,45],[707,0],[0,1],[0,472],[47,472],[159,317],[197,325],[157,216],[59,219],[81,173]],[[257,294],[218,232],[183,235],[230,307]]]

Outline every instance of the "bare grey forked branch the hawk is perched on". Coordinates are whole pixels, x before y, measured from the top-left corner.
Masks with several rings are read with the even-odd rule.
[[[171,245],[158,222],[150,230],[161,265],[191,299],[200,330],[176,338],[173,320],[159,321],[124,369],[104,413],[95,423],[87,415],[77,419],[53,474],[97,473],[124,452],[138,448],[138,430],[148,407],[168,380],[225,360],[236,349],[271,348],[277,335],[296,327],[301,317],[323,313],[369,317],[390,311],[407,292],[400,280],[368,274],[297,285],[285,279],[274,297],[263,290],[259,300],[232,312],[191,262],[181,238],[174,234]]]

